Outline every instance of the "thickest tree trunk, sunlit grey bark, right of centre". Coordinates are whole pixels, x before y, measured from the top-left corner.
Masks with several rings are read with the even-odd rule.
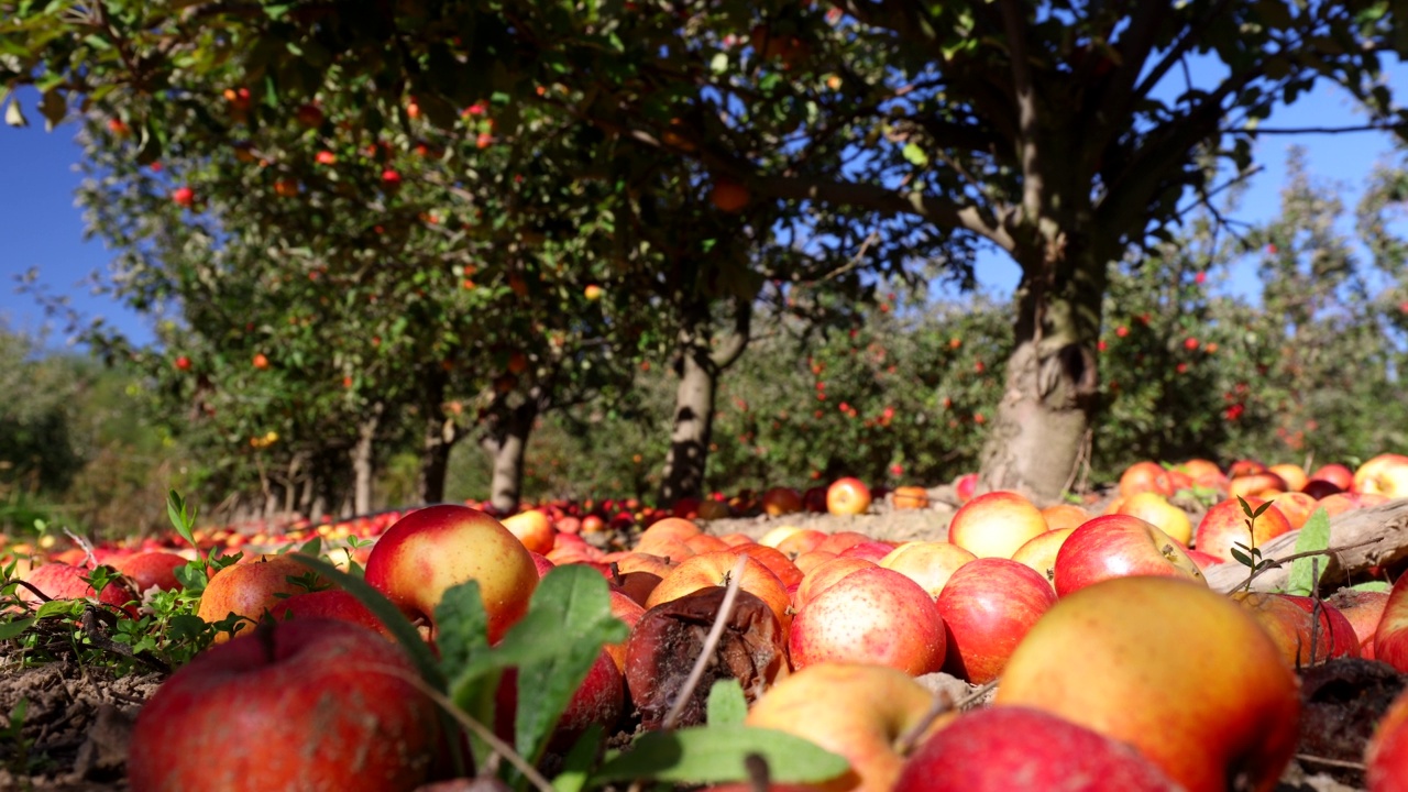
[[[1064,233],[1024,266],[1017,292],[1015,347],[979,478],[1036,505],[1055,503],[1074,481],[1097,406],[1093,347],[1100,335],[1108,262],[1066,248]]]

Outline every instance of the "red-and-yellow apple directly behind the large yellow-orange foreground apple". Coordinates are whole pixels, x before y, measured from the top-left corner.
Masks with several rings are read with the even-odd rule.
[[[1207,585],[1177,541],[1129,514],[1105,514],[1071,531],[1056,552],[1052,583],[1059,596],[1110,578],[1156,575]]]

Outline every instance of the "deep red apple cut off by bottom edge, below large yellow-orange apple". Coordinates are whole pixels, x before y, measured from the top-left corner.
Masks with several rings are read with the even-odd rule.
[[[986,707],[938,730],[904,764],[894,792],[1176,792],[1119,740],[1025,706]]]

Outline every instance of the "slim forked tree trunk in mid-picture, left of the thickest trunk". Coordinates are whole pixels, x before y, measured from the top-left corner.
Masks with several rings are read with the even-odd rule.
[[[665,476],[660,482],[662,505],[681,497],[698,497],[704,490],[718,378],[748,347],[752,303],[739,299],[734,333],[717,349],[711,342],[708,303],[697,302],[687,316],[693,316],[693,321],[680,331],[680,385],[674,390],[670,451],[665,457]]]

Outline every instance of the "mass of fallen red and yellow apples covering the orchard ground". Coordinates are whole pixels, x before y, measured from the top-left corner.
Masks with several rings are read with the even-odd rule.
[[[831,510],[869,507],[869,490],[862,497],[856,485],[828,488]],[[1195,526],[1170,502],[1191,488],[1221,497]],[[684,676],[722,619],[708,678],[742,682],[748,724],[845,757],[849,772],[815,786],[826,792],[1090,789],[1091,779],[1102,789],[1271,789],[1298,741],[1298,668],[1369,657],[1408,671],[1408,575],[1391,592],[1329,600],[1224,595],[1202,576],[1235,562],[1236,545],[1294,530],[1314,509],[1408,497],[1408,457],[1314,474],[1140,462],[1101,514],[1038,509],[1011,492],[973,495],[970,485],[959,492],[964,503],[942,540],[787,526],[800,497],[769,490],[759,505],[776,510],[777,524],[756,540],[655,513],[632,547],[607,551],[583,537],[580,519],[552,509],[500,521],[432,506],[398,516],[356,559],[432,645],[453,629],[435,620],[452,586],[479,583],[487,638],[497,641],[549,569],[597,569],[631,633],[603,648],[558,723],[559,745],[591,723],[700,722],[708,685],[689,692]],[[1239,497],[1270,505],[1249,526]],[[144,555],[114,561],[135,590],[156,581],[142,576]],[[184,562],[168,555],[165,564]],[[37,586],[61,575],[54,567],[62,565],[31,571]],[[294,789],[313,779],[415,789],[444,772],[449,747],[435,705],[407,679],[410,660],[349,593],[307,593],[291,581],[306,575],[287,555],[251,555],[211,578],[203,619],[273,621],[201,654],[142,709],[128,758],[134,789]],[[721,614],[731,586],[736,602]],[[132,590],[72,596],[137,599]],[[941,671],[1000,682],[993,703],[945,707],[926,683]],[[500,688],[500,712],[513,710],[515,695],[511,682]],[[676,706],[680,698],[687,706]],[[511,722],[494,726],[513,733]],[[1371,791],[1405,789],[1408,693],[1380,722],[1364,761]]]

